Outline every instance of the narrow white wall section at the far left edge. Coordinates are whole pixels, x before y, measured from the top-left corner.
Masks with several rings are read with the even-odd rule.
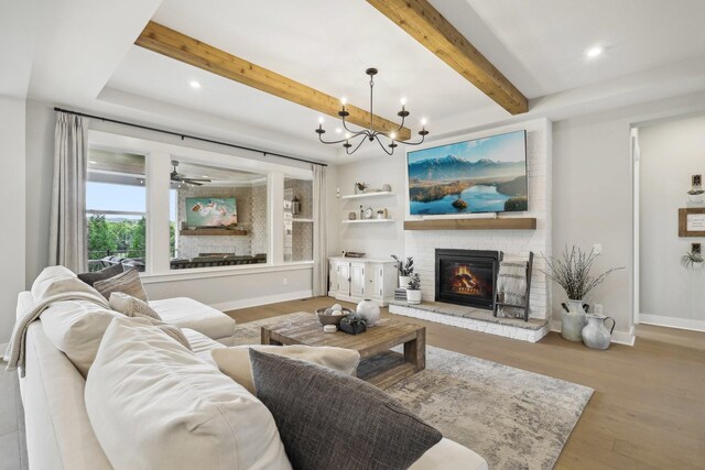
[[[0,230],[0,245],[3,248],[0,270],[0,342],[10,338],[18,293],[24,287],[24,107],[23,99],[0,96],[0,159],[4,174],[0,185],[0,200],[6,208],[4,227]]]

